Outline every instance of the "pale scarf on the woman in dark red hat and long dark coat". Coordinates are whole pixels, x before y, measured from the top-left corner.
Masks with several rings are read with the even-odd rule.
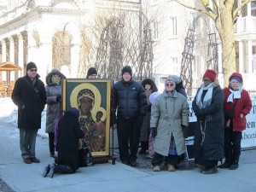
[[[207,94],[205,95],[203,102],[201,102],[201,95],[203,90],[207,90]],[[207,108],[207,106],[211,105],[212,102],[212,90],[213,90],[213,82],[208,84],[207,86],[201,86],[198,94],[196,96],[196,105],[198,108]]]

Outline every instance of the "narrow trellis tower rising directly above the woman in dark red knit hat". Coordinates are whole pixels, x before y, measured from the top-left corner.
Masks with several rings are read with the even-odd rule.
[[[218,44],[215,32],[209,34],[207,68],[218,73]]]

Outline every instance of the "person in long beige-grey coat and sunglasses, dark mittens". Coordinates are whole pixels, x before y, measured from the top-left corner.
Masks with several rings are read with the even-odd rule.
[[[179,155],[184,154],[183,128],[189,126],[189,103],[175,90],[175,81],[166,79],[165,90],[157,96],[151,107],[151,135],[154,138],[153,171],[160,172],[166,160],[168,171],[174,172]]]

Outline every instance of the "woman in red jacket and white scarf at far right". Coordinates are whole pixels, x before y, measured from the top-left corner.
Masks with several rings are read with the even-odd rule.
[[[224,88],[224,151],[225,162],[220,168],[235,170],[241,154],[241,131],[246,129],[245,116],[252,108],[251,98],[242,89],[240,73],[232,73],[230,85]]]

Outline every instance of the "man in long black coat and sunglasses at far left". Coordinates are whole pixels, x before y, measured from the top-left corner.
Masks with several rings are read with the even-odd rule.
[[[38,67],[29,62],[26,76],[17,79],[12,100],[18,106],[21,157],[26,164],[39,163],[35,147],[38,129],[41,128],[41,113],[46,103],[44,83],[39,79]]]

